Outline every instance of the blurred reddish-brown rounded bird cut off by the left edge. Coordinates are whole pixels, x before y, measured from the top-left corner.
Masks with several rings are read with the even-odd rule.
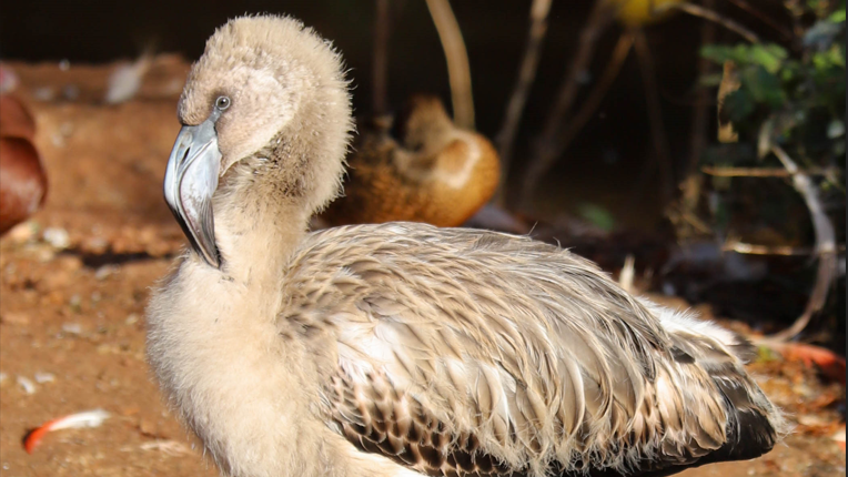
[[[36,122],[27,106],[0,95],[0,234],[34,213],[47,196],[47,175],[32,141]]]

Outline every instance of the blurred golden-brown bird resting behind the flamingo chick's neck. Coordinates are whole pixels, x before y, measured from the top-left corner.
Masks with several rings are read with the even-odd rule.
[[[457,226],[492,197],[497,152],[481,134],[456,128],[438,98],[412,97],[394,122],[391,116],[360,121],[344,196],[321,216],[330,225]]]

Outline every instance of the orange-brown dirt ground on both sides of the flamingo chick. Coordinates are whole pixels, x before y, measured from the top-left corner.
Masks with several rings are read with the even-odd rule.
[[[0,240],[0,475],[218,475],[144,362],[150,290],[184,243],[161,182],[188,64],[158,57],[119,105],[101,101],[114,64],[10,65],[38,122],[50,191]],[[682,475],[844,476],[845,385],[799,362],[761,359],[751,371],[796,432],[759,459]],[[111,414],[102,426],[50,433],[24,451],[30,429],[94,408]]]

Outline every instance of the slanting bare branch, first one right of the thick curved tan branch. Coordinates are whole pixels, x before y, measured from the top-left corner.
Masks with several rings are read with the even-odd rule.
[[[506,113],[504,114],[504,123],[501,125],[501,131],[495,140],[497,152],[501,155],[502,168],[501,186],[496,194],[498,201],[503,201],[503,189],[509,172],[515,134],[518,131],[518,124],[521,124],[529,89],[536,79],[536,68],[538,67],[538,58],[542,53],[542,41],[547,32],[547,14],[549,11],[551,0],[533,0],[533,6],[531,7],[531,29],[521,69],[518,70],[518,81],[513,89],[513,94],[509,98]]]

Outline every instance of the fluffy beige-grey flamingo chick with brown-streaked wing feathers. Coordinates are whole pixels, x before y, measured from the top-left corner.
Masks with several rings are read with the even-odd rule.
[[[342,60],[285,17],[220,28],[179,103],[164,194],[191,242],[148,359],[222,471],[667,475],[786,429],[744,338],[525,236],[307,233],[341,190]]]

